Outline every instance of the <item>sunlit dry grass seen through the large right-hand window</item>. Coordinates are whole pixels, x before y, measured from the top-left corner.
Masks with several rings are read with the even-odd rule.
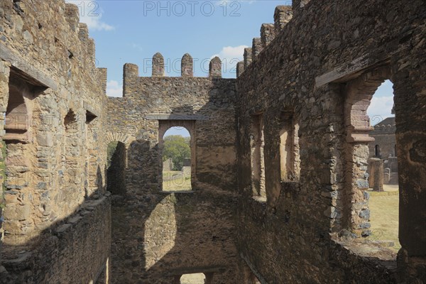
[[[395,246],[390,249],[398,251],[400,243],[398,240],[398,214],[399,195],[398,192],[372,192],[370,197],[370,222],[373,239],[380,241],[393,241]]]

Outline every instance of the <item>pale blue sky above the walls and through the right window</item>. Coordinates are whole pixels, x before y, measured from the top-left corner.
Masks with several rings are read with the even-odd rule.
[[[195,76],[207,77],[209,60],[224,62],[223,77],[236,77],[236,62],[244,48],[260,36],[262,23],[273,23],[275,6],[291,1],[142,1],[70,0],[79,6],[96,42],[98,67],[108,68],[107,94],[121,97],[123,65],[139,66],[140,76],[151,76],[151,58],[160,52],[168,76],[180,76],[180,59],[190,53]],[[373,97],[368,114],[391,116],[392,84],[386,82]],[[372,119],[373,122],[373,119]],[[377,121],[378,122],[378,121]]]

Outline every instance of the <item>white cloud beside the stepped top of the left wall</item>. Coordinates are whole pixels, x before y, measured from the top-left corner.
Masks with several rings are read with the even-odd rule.
[[[101,21],[104,12],[97,1],[66,0],[78,6],[80,23],[86,23],[89,31],[112,31],[114,26]]]

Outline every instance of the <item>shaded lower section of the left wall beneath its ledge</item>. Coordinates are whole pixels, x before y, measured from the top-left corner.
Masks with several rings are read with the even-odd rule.
[[[0,272],[0,283],[105,283],[111,205],[110,194],[102,187],[99,166],[97,173],[98,190],[73,214],[37,235],[25,236],[20,245],[13,244],[17,239],[6,235],[1,247],[1,266],[5,269]]]

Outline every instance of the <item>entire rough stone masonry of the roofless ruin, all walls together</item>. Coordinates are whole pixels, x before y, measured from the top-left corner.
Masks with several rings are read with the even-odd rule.
[[[108,98],[77,6],[1,1],[0,283],[423,283],[424,1],[297,0],[272,16],[236,79],[219,58],[193,77],[189,54],[165,77],[156,53],[151,77],[126,63]],[[385,80],[398,255],[369,222],[366,110]],[[173,126],[191,136],[185,192],[163,190]]]

